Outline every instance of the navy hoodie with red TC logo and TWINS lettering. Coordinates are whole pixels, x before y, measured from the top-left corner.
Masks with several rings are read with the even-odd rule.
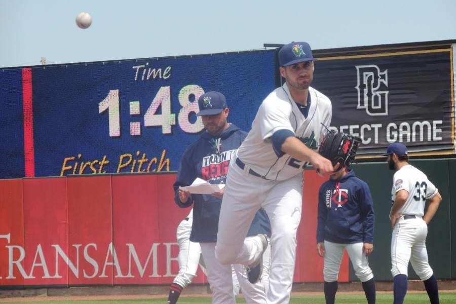
[[[353,170],[339,180],[329,178],[318,193],[317,243],[372,243],[374,211],[367,183]]]

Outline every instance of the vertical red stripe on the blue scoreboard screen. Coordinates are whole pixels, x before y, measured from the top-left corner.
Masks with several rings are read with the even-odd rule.
[[[22,69],[22,98],[24,107],[25,177],[34,177],[35,151],[33,148],[33,105],[31,68]]]

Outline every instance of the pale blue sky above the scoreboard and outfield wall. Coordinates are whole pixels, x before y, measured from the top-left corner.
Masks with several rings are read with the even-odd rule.
[[[89,13],[87,29],[75,23]],[[455,0],[0,0],[0,67],[456,40]]]

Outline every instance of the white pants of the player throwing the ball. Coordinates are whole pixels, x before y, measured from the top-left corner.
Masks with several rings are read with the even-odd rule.
[[[301,219],[302,176],[284,181],[253,176],[230,162],[218,224],[216,255],[223,264],[251,264],[261,244],[246,235],[260,207],[271,221],[271,268],[267,303],[288,303],[296,257],[296,232]],[[241,287],[242,289],[242,287]]]

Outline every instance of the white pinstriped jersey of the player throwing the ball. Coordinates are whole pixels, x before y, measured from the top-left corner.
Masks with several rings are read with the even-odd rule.
[[[328,97],[309,88],[310,109],[307,119],[291,97],[287,84],[274,90],[261,103],[244,142],[239,159],[256,173],[272,180],[284,180],[302,174],[308,162],[288,154],[277,157],[271,136],[277,130],[290,130],[309,148],[317,150],[331,123],[332,107]]]

